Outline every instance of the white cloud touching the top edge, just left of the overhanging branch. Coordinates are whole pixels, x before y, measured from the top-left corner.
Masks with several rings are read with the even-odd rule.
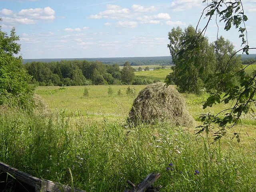
[[[201,6],[202,0],[174,0],[171,4],[174,11],[184,11]]]

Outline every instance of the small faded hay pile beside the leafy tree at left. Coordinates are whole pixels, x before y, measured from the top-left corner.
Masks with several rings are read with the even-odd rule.
[[[35,104],[34,112],[36,114],[42,115],[42,116],[50,115],[51,113],[50,107],[41,96],[34,94],[34,104]]]

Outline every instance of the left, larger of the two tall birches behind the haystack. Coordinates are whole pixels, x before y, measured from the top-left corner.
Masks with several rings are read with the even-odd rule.
[[[195,29],[192,26],[188,26],[184,32],[180,27],[172,28],[168,33],[168,47],[175,66],[172,68],[174,72],[167,76],[167,83],[175,82],[180,92],[199,94],[208,75],[214,72],[216,57],[214,47],[208,43],[207,38],[199,38],[200,45],[190,55],[182,54],[183,50],[190,49],[186,39],[192,38],[194,34]]]

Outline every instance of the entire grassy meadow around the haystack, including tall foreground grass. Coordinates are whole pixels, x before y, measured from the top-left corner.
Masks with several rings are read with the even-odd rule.
[[[136,76],[163,80],[168,73],[142,71]],[[122,192],[129,188],[126,180],[138,184],[150,172],[161,174],[156,185],[166,192],[255,191],[253,117],[244,116],[242,124],[212,143],[212,133],[194,134],[198,117],[227,105],[203,110],[207,94],[182,94],[196,120],[194,127],[167,122],[128,127],[132,102],[145,86],[130,85],[133,95],[126,94],[128,85],[37,87],[50,112],[0,110],[1,161],[38,178],[92,192]],[[232,139],[235,131],[240,132],[240,143]]]

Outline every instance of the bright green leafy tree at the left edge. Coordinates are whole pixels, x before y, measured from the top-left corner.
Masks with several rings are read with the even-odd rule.
[[[20,51],[19,37],[13,28],[10,36],[0,28],[0,104],[27,108],[32,104],[31,79],[22,67],[22,57],[14,56]]]

